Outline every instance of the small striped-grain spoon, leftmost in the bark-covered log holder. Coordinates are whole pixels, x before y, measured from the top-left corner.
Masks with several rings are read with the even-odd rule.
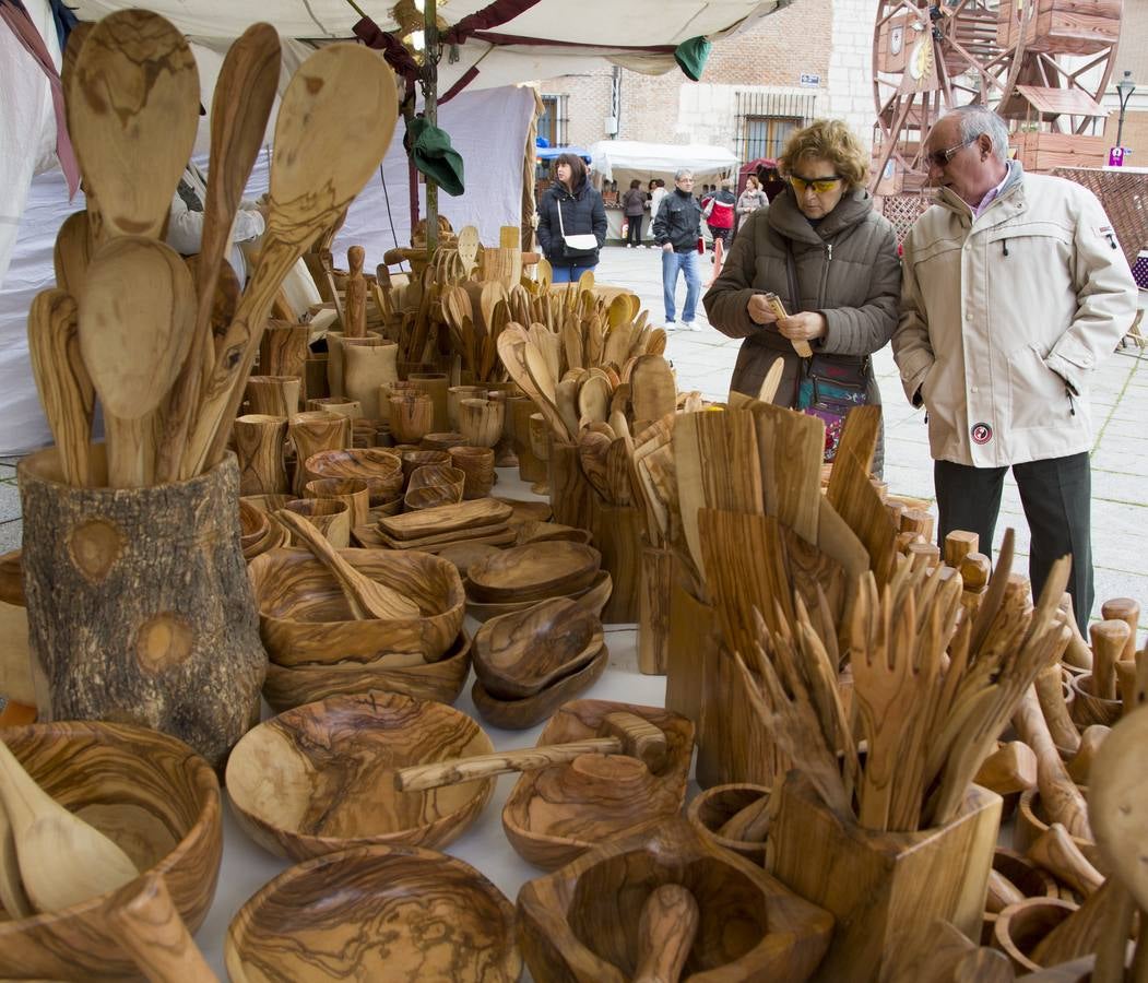
[[[84,487],[91,480],[95,390],[80,357],[76,301],[64,291],[42,291],[32,301],[28,353],[64,481]]]

